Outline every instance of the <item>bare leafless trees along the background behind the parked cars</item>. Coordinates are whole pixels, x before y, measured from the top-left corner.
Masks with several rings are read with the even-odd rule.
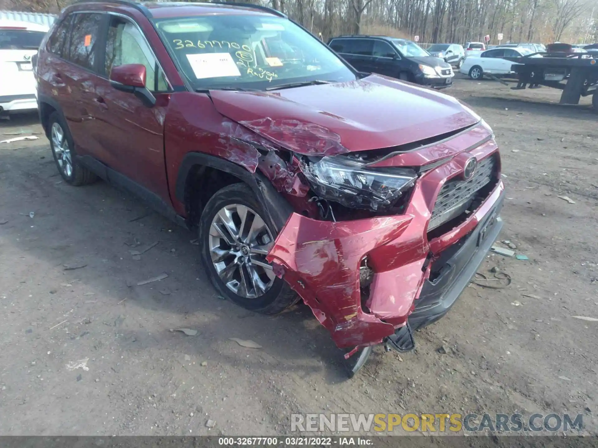
[[[419,42],[598,41],[596,0],[245,0],[273,7],[327,40],[382,34]],[[57,13],[72,0],[0,0],[0,9]]]

